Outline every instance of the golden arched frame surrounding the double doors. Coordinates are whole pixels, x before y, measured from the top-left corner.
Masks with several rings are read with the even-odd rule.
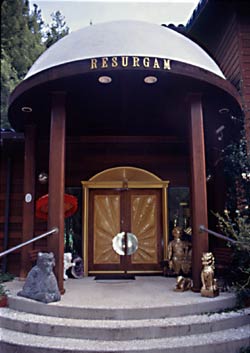
[[[168,244],[168,206],[167,189],[169,181],[155,174],[135,167],[116,167],[106,169],[88,181],[82,181],[83,188],[83,257],[84,276],[88,276],[88,219],[90,189],[162,189],[162,229],[163,256],[167,256]]]

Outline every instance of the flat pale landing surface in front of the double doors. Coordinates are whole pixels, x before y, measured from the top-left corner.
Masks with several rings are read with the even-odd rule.
[[[68,279],[64,282],[62,300],[50,305],[85,308],[151,308],[208,303],[232,297],[229,292],[216,298],[204,298],[192,291],[175,292],[175,278],[144,276],[135,280],[95,280],[94,277]],[[22,288],[24,282],[14,280],[6,287],[11,295]]]

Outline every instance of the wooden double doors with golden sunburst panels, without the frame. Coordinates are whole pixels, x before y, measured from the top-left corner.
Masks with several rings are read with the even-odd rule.
[[[89,214],[89,273],[161,270],[160,190],[91,190]],[[133,254],[116,252],[113,239],[119,233],[136,237],[138,247]]]

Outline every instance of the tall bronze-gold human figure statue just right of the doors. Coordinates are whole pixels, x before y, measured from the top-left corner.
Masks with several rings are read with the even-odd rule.
[[[180,274],[181,270],[184,274],[188,274],[191,269],[191,243],[181,240],[181,227],[174,227],[172,234],[174,240],[168,245],[169,268],[177,275]]]

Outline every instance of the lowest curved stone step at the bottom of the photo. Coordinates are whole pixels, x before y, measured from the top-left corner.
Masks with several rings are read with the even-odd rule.
[[[236,353],[250,345],[250,325],[223,331],[144,340],[106,341],[38,336],[0,329],[4,353]]]

